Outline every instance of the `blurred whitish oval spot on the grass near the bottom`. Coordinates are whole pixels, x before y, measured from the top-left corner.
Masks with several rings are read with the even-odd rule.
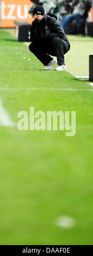
[[[56,218],[55,224],[59,227],[68,229],[74,227],[75,221],[69,216],[59,216]]]

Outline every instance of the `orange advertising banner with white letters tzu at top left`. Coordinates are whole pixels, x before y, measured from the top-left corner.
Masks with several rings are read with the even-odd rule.
[[[32,2],[30,0],[0,0],[0,27],[15,27],[14,20],[31,23],[31,15],[28,13]]]

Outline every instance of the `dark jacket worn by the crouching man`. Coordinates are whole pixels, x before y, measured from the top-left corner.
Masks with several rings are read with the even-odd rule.
[[[41,21],[38,22],[38,20],[34,20],[32,22],[30,39],[35,44],[41,44],[45,41],[47,42],[47,40],[52,40],[55,36],[66,41],[70,48],[70,43],[64,33],[64,29],[58,23],[55,15],[47,14]]]

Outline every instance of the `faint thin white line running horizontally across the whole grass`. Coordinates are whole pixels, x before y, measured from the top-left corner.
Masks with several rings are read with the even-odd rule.
[[[93,92],[92,89],[73,89],[73,88],[0,88],[0,90],[57,90],[57,91],[69,91],[69,92]]]

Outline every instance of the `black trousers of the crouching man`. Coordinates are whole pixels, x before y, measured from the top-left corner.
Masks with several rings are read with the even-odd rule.
[[[51,41],[46,41],[43,44],[31,43],[29,45],[29,50],[35,54],[44,66],[52,60],[51,56],[56,56],[58,65],[63,65],[64,54],[69,51],[69,48],[68,43],[58,37],[54,37]]]

